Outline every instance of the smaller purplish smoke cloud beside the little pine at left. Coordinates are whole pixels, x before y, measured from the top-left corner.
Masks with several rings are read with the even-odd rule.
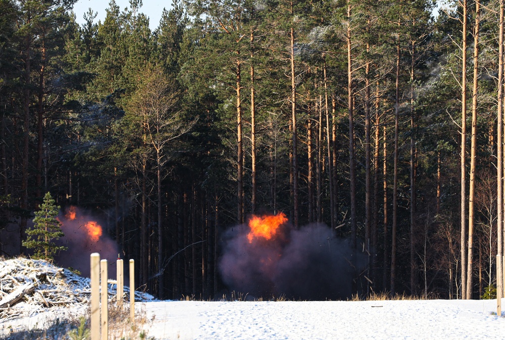
[[[72,267],[81,272],[82,276],[89,277],[90,262],[89,255],[99,253],[100,260],[106,259],[108,262],[108,276],[116,277],[116,260],[118,258],[119,246],[111,239],[98,218],[83,209],[75,208],[75,219],[69,219],[65,213],[60,213],[58,219],[62,223],[62,230],[65,234],[58,245],[68,247],[68,250],[60,252],[55,257],[55,262],[61,267]],[[68,213],[68,211],[67,211]],[[98,240],[94,241],[87,232],[85,227],[86,222],[96,221],[102,226],[102,235]],[[127,261],[125,261],[127,262]]]

